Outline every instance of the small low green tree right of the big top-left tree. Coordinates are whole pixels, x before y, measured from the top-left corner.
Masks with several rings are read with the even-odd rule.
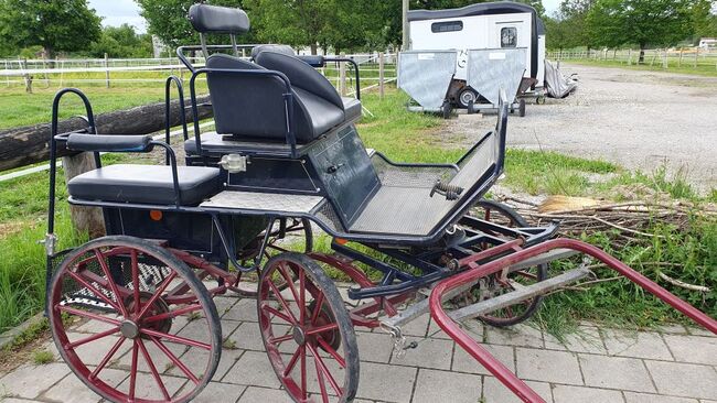
[[[92,44],[90,53],[95,57],[151,57],[152,37],[139,35],[129,24],[106,26],[100,39]]]

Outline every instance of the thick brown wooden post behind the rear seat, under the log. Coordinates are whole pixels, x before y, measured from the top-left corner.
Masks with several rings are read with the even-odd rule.
[[[69,182],[73,177],[94,170],[95,159],[93,153],[79,153],[62,157],[62,167],[65,172],[65,179]],[[75,229],[79,232],[87,232],[90,239],[105,235],[105,219],[99,207],[69,206],[69,215]]]

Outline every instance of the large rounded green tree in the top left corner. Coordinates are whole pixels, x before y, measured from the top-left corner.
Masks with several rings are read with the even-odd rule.
[[[14,48],[40,45],[51,58],[87,50],[100,22],[86,0],[0,0],[0,41]]]

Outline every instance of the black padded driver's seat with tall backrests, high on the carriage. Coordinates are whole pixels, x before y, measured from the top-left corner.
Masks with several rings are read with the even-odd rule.
[[[275,52],[261,52],[257,58],[266,59],[268,54],[281,57],[279,72],[291,81],[297,142],[308,143],[344,121],[341,97],[319,72],[296,57]],[[212,55],[206,66],[210,69],[264,69],[258,64],[225,54]],[[300,72],[287,74],[295,69]],[[207,81],[218,133],[269,141],[286,139],[286,86],[278,77],[210,72]]]

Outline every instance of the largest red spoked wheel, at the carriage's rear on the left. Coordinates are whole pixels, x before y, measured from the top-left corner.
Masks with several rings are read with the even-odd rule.
[[[189,402],[220,362],[206,287],[157,243],[119,236],[77,248],[57,266],[47,304],[60,355],[106,400]]]

